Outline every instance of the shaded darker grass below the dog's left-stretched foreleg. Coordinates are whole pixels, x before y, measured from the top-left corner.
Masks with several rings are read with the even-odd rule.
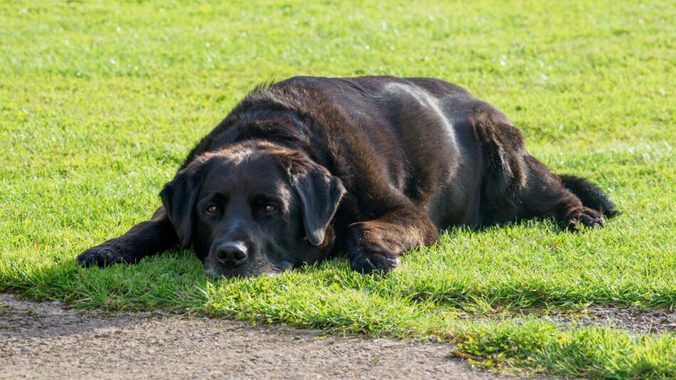
[[[20,290],[33,300],[59,300],[73,307],[125,311],[199,309],[208,280],[191,251],[169,251],[135,265],[81,268],[75,260],[61,260],[14,272],[15,278],[4,281],[4,291]]]

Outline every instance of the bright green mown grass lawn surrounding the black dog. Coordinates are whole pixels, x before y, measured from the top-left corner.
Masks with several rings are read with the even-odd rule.
[[[112,310],[206,312],[440,339],[477,366],[676,376],[676,334],[561,327],[593,305],[676,307],[672,1],[3,1],[0,290]],[[347,259],[211,280],[190,251],[83,270],[80,251],[148,218],[189,149],[256,83],[431,76],[505,112],[535,157],[623,215],[444,233],[395,273]],[[452,347],[449,345],[449,352]]]

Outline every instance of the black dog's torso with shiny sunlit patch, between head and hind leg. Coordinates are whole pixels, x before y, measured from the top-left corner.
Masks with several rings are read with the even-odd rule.
[[[295,77],[253,90],[215,131],[234,137],[224,131],[260,120],[259,110],[270,117],[275,107],[305,117],[295,126],[310,142],[307,149],[343,179],[354,199],[369,199],[374,186],[392,186],[438,228],[485,221],[480,196],[486,166],[476,120],[509,121],[463,88],[432,78]],[[250,137],[250,126],[241,130],[233,142]],[[355,221],[370,207],[344,207],[349,210],[339,216]]]

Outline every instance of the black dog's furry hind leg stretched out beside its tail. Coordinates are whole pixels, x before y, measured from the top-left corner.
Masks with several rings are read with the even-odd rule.
[[[483,224],[524,218],[553,218],[561,228],[574,231],[581,225],[603,225],[600,209],[583,204],[579,195],[574,193],[575,190],[566,188],[559,176],[551,174],[549,169],[528,154],[521,134],[507,117],[495,110],[483,110],[473,117],[472,127],[483,154]],[[572,177],[565,179],[577,188],[591,186],[586,181],[574,181]],[[576,189],[572,185],[571,188]],[[583,194],[582,191],[578,192]],[[586,190],[586,193],[589,191]],[[589,193],[583,197],[595,199],[594,204],[603,198],[608,205],[612,205],[603,194],[598,194]]]

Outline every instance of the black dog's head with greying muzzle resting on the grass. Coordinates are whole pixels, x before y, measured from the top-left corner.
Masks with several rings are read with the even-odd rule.
[[[204,154],[160,193],[181,248],[208,274],[278,273],[326,257],[342,182],[303,152],[243,142]]]

